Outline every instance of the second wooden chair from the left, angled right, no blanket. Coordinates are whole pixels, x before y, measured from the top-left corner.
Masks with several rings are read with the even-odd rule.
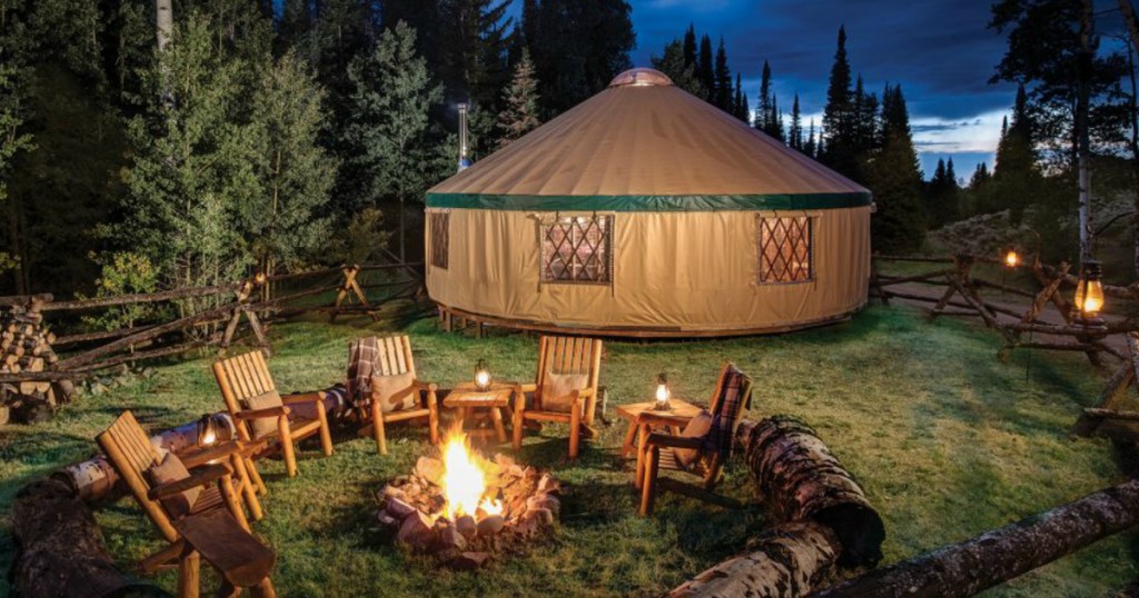
[[[254,419],[274,419],[277,421],[277,432],[269,436],[276,442],[276,445],[271,443],[270,448],[280,448],[289,477],[296,475],[295,443],[300,443],[313,434],[320,434],[320,447],[325,456],[333,454],[333,436],[328,429],[328,416],[325,413],[320,395],[317,393],[282,395],[281,402],[284,404],[281,407],[265,409],[247,409],[245,407],[245,401],[277,390],[272,376],[269,375],[265,357],[261,351],[251,351],[243,355],[219,360],[214,362],[213,370],[214,377],[218,378],[218,386],[221,388],[222,399],[226,400],[226,409],[233,418],[238,436],[241,440],[254,440],[251,426],[251,421]],[[316,419],[293,415],[290,407],[303,403],[317,403]]]

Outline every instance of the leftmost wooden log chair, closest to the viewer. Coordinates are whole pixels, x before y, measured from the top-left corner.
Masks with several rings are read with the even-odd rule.
[[[253,588],[260,596],[276,596],[269,572],[277,555],[249,533],[238,499],[244,493],[247,500],[256,501],[247,478],[233,477],[233,468],[243,464],[238,443],[226,442],[181,457],[183,465],[192,468],[190,476],[156,486],[148,481],[147,472],[159,462],[158,451],[130,411],[118,416],[96,440],[134,500],[169,542],[142,560],[145,572],[177,563],[178,596],[195,597],[204,557],[221,575],[223,590]],[[237,480],[245,480],[245,488]],[[172,516],[161,502],[194,488],[204,490],[186,515]],[[260,518],[260,507],[252,515]]]

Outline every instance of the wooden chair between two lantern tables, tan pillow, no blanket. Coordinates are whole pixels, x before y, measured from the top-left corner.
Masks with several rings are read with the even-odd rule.
[[[592,425],[597,411],[597,385],[601,376],[601,341],[543,336],[539,342],[538,355],[534,384],[521,385],[522,392],[515,394],[514,448],[515,450],[522,448],[522,431],[527,421],[558,421],[570,424],[570,458],[576,458],[581,436],[597,435]],[[585,375],[588,378],[584,388],[571,391],[568,412],[550,410],[552,399],[564,398],[542,395],[550,374]],[[530,407],[526,407],[527,393],[532,401]]]

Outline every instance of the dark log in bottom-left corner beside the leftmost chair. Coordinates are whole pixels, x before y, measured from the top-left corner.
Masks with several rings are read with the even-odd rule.
[[[16,494],[11,534],[17,554],[10,579],[26,598],[169,596],[115,566],[91,510],[58,480],[33,482]]]

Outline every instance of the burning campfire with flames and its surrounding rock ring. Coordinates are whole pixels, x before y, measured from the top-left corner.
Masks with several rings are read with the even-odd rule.
[[[549,474],[502,454],[485,459],[466,434],[451,433],[442,460],[420,457],[410,475],[380,489],[377,517],[409,550],[477,568],[552,529],[558,495]]]

